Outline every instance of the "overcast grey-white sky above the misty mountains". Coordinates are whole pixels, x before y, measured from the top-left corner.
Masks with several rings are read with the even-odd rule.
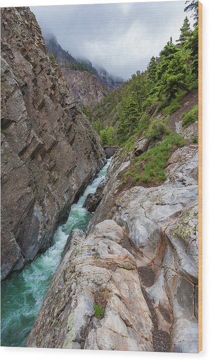
[[[30,7],[42,31],[53,32],[74,57],[124,79],[145,70],[170,36],[179,38],[190,16],[184,8],[185,1]]]

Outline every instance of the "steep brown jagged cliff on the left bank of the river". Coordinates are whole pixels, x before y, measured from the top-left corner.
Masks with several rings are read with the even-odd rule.
[[[29,8],[2,9],[2,277],[51,242],[104,163]]]

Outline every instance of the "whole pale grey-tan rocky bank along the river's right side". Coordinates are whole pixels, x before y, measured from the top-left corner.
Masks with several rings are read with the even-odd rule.
[[[186,142],[162,184],[122,186],[147,139],[114,156],[88,235],[69,237],[27,346],[197,352],[197,122],[181,129],[182,111],[168,124]]]

